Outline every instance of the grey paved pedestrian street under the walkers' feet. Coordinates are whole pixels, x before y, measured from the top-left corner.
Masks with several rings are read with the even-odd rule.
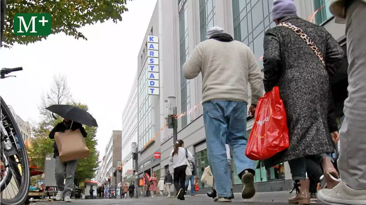
[[[235,193],[235,198],[232,200],[231,204],[241,204],[241,205],[264,205],[264,204],[276,204],[285,205],[287,203],[287,198],[295,196],[294,193],[289,194],[289,192],[262,192],[257,193],[255,196],[249,200],[243,200],[241,193]],[[186,200],[180,201],[176,198],[167,197],[141,197],[141,198],[123,198],[123,199],[94,199],[94,200],[74,200],[70,205],[211,205],[213,202],[212,198],[207,197],[205,194],[198,194],[196,196],[186,196]],[[34,205],[61,205],[64,202],[36,202],[31,203]],[[312,201],[311,204],[321,204],[321,202]]]

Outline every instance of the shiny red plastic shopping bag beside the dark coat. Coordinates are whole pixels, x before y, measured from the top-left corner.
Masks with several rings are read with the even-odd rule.
[[[268,159],[288,148],[286,111],[277,86],[259,98],[254,118],[245,150],[249,159]]]

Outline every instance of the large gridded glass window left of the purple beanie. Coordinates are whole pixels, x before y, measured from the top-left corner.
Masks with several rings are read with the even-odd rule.
[[[272,3],[273,0],[232,0],[234,39],[250,47],[261,67],[264,32],[276,26],[270,15]]]

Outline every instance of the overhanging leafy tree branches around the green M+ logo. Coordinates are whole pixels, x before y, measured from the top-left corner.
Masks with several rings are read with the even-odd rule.
[[[85,39],[78,28],[87,24],[113,20],[122,21],[121,14],[128,11],[127,0],[7,0],[4,46],[34,43],[47,36],[16,36],[14,15],[16,13],[50,13],[52,34],[64,33],[75,39]]]

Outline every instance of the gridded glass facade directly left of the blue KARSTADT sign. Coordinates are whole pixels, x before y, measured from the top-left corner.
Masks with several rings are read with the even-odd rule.
[[[153,137],[151,95],[147,92],[147,61],[138,78],[138,148],[141,150]]]

